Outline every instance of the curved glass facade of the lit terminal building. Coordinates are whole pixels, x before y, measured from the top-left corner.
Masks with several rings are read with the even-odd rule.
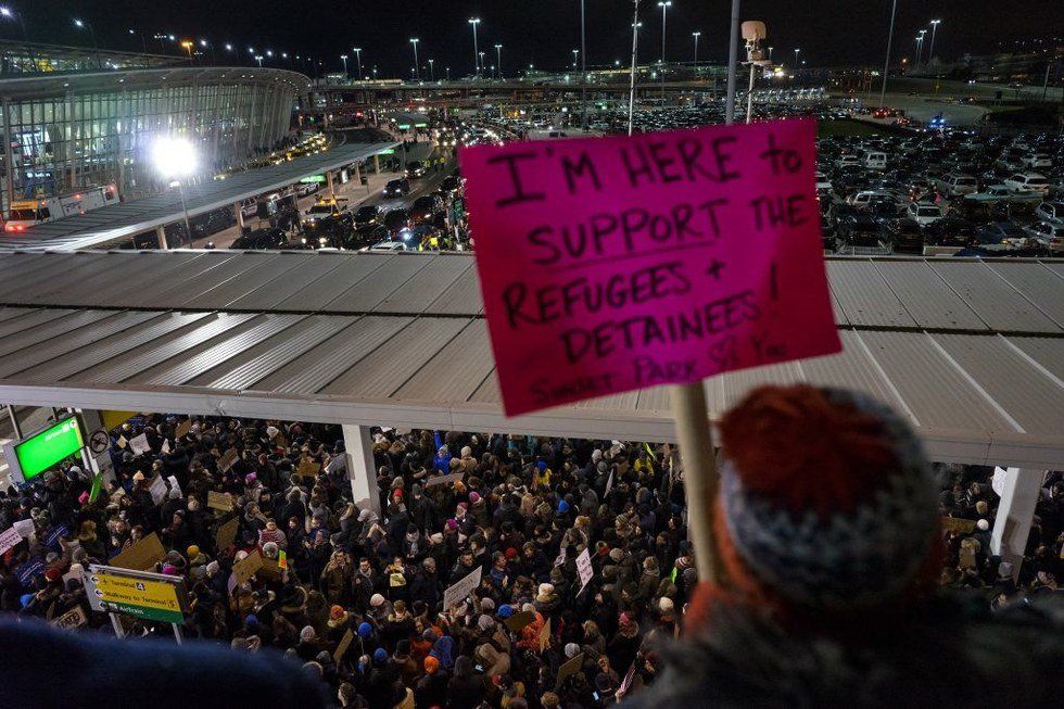
[[[114,183],[153,192],[160,136],[181,136],[204,174],[268,152],[288,136],[308,79],[258,68],[166,68],[0,80],[3,206]]]

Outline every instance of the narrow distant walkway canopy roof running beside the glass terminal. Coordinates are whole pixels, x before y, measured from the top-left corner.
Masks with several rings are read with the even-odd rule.
[[[238,173],[224,180],[205,180],[185,187],[185,203],[194,217],[251,197],[293,185],[307,175],[363,161],[398,143],[345,143],[325,153],[304,155],[292,162]],[[138,233],[178,221],[183,217],[176,189],[161,194],[105,206],[65,219],[34,227],[17,237],[0,236],[0,252],[75,251],[104,248]]]

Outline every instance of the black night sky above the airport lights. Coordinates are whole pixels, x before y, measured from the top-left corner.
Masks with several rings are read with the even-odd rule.
[[[0,0],[24,10],[33,39],[59,43],[91,40],[73,26],[72,17],[92,23],[101,46],[139,50],[135,27],[215,40],[230,41],[249,61],[248,47],[270,48],[294,55],[314,54],[339,71],[339,55],[363,48],[363,66],[376,64],[380,76],[408,76],[413,66],[409,38],[420,38],[421,64],[433,58],[438,76],[452,67],[452,76],[469,74],[473,64],[472,31],[467,20],[479,16],[480,49],[485,64],[494,64],[494,45],[502,43],[507,74],[523,69],[558,69],[572,62],[580,47],[580,0]],[[950,59],[964,52],[993,51],[999,41],[1049,38],[1064,35],[1064,2],[1035,0],[1008,3],[1000,0],[899,0],[895,35],[896,53],[914,50],[916,30],[942,20],[936,54]],[[667,59],[689,60],[691,33],[700,30],[699,59],[722,62],[727,53],[729,0],[673,0],[668,11]],[[1022,10],[1016,10],[1022,8]],[[629,61],[631,52],[631,0],[586,0],[587,63]],[[768,24],[773,59],[794,56],[809,66],[877,64],[886,48],[890,0],[746,0],[743,20]],[[657,0],[642,0],[641,61],[657,60],[661,52],[661,10]],[[17,26],[0,26],[7,38],[18,38]],[[151,45],[150,45],[151,47]],[[157,49],[157,43],[154,45]],[[940,50],[940,51],[939,51]],[[927,43],[924,46],[926,55]],[[349,62],[354,71],[354,59]]]

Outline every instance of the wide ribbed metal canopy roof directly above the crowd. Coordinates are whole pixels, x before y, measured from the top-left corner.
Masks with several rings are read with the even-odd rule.
[[[663,388],[506,418],[476,273],[469,254],[0,255],[0,401],[675,440]],[[709,379],[712,417],[761,383],[847,387],[937,460],[1064,468],[1064,262],[828,274],[845,351]]]

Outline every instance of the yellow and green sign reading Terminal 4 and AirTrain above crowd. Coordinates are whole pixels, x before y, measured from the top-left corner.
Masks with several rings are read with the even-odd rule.
[[[180,623],[189,608],[183,577],[91,565],[84,581],[93,610]]]

